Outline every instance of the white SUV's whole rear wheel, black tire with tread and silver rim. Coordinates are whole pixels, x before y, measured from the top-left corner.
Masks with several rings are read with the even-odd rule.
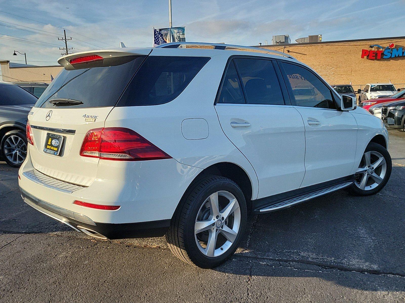
[[[238,248],[247,220],[239,186],[220,176],[196,182],[184,195],[166,233],[180,260],[202,268],[216,267]]]

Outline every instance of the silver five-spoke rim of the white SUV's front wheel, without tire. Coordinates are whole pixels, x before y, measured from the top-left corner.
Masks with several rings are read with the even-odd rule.
[[[356,171],[355,184],[362,190],[371,190],[382,183],[387,171],[384,156],[377,151],[364,153]]]

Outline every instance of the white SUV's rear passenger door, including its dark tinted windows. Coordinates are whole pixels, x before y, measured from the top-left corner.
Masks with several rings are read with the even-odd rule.
[[[277,74],[272,60],[234,57],[215,103],[225,135],[256,171],[258,198],[298,189],[305,175],[303,120]]]

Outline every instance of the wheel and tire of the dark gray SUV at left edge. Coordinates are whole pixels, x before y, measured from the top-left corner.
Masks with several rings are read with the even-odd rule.
[[[1,140],[3,160],[12,167],[20,167],[27,157],[27,138],[22,130],[10,130]]]

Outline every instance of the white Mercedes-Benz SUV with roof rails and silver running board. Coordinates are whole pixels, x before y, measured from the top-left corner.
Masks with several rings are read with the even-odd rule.
[[[181,42],[58,62],[28,115],[19,187],[87,235],[166,235],[179,259],[210,268],[249,214],[375,194],[390,177],[382,121],[288,54]]]

